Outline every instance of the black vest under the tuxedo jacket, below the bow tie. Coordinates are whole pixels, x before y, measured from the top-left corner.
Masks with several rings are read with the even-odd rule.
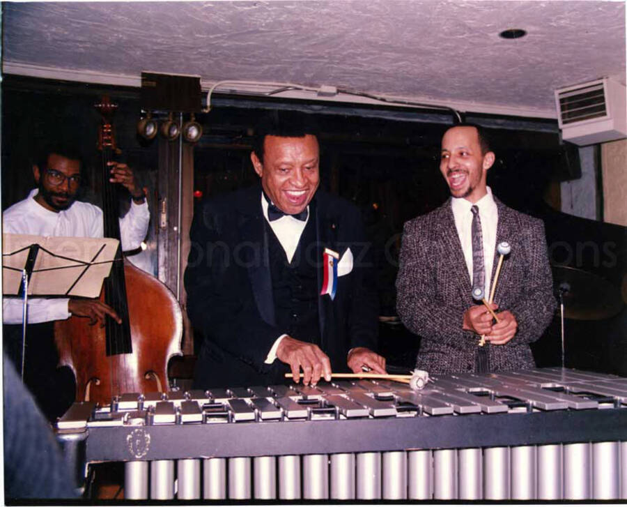
[[[292,262],[265,222],[268,232],[268,254],[272,298],[277,327],[296,340],[320,345],[318,319],[318,272],[316,269],[316,216],[311,213]]]

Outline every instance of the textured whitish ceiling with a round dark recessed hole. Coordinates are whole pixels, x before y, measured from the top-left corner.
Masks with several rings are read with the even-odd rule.
[[[555,118],[554,89],[625,82],[624,1],[2,4],[3,72],[140,85],[142,70],[336,86]],[[504,40],[504,29],[527,36]],[[234,88],[236,89],[236,87]]]

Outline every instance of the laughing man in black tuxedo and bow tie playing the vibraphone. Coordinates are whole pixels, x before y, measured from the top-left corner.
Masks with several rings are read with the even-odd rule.
[[[261,186],[203,203],[185,272],[187,312],[203,333],[197,388],[305,384],[331,372],[385,372],[378,302],[359,211],[318,189],[307,119],[268,116],[251,160]]]

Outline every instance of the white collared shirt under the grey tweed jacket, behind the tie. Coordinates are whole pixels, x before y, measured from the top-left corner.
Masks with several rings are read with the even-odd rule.
[[[494,202],[492,190],[487,187],[488,193],[481,197],[477,204],[479,207],[479,218],[481,218],[481,235],[483,236],[483,263],[486,266],[486,286],[483,287],[483,294],[486,299],[490,296],[490,278],[492,278],[492,267],[494,264],[494,252],[496,248],[497,224],[499,213]],[[455,227],[462,245],[464,259],[468,273],[470,273],[470,284],[472,285],[472,202],[463,197],[451,198],[451,209],[455,218]]]

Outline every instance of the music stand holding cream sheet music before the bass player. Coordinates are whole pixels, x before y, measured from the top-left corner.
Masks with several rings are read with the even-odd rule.
[[[2,235],[3,297],[22,298],[22,380],[29,296],[98,297],[118,243],[110,238]]]

